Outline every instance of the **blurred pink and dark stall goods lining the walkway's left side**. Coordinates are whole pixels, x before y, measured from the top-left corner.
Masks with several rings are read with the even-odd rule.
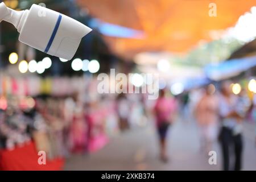
[[[147,122],[141,94],[98,94],[96,78],[71,94],[0,98],[0,150],[34,142],[48,159],[100,150],[109,139]]]

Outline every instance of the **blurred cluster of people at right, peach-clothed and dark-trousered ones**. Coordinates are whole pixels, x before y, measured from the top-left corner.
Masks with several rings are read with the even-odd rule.
[[[224,170],[242,169],[243,122],[256,121],[255,94],[251,95],[245,88],[234,94],[233,85],[231,81],[222,81],[216,89],[210,84],[201,89],[199,95],[191,96],[195,102],[191,103],[191,111],[199,128],[201,150],[208,154],[218,140]]]

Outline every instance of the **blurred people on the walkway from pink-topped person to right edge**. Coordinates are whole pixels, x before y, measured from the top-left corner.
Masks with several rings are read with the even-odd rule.
[[[168,161],[168,127],[177,120],[185,120],[196,122],[200,151],[208,156],[210,151],[214,151],[213,143],[218,141],[222,152],[222,169],[242,169],[243,122],[256,122],[256,96],[245,88],[240,89],[240,92],[233,89],[233,93],[233,87],[231,81],[222,81],[176,97],[167,96],[167,90],[160,90],[154,113],[159,134],[160,159],[163,162]]]

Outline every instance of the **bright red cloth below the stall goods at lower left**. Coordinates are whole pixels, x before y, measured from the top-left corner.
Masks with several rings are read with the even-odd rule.
[[[64,159],[46,160],[38,164],[38,152],[34,142],[16,147],[14,150],[0,150],[1,171],[59,171],[63,169]]]

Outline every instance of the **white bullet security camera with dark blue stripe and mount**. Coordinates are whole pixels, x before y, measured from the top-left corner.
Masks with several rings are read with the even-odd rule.
[[[67,60],[72,59],[81,39],[92,31],[75,19],[35,4],[30,10],[15,11],[2,2],[2,20],[17,28],[20,42]]]

